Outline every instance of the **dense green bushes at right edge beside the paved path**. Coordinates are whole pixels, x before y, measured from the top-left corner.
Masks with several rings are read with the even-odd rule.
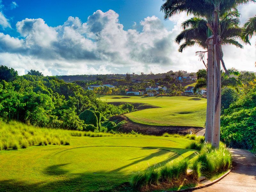
[[[221,116],[221,139],[231,147],[256,152],[256,81]]]

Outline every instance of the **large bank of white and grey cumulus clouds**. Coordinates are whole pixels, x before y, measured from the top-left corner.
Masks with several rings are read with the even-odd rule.
[[[200,48],[191,47],[179,53],[179,45],[174,43],[181,31],[180,24],[191,16],[180,14],[171,18],[169,22],[175,23],[171,31],[156,16],[147,17],[132,29],[124,30],[118,17],[113,10],[98,10],[85,23],[78,17],[68,17],[57,27],[48,26],[40,18],[24,19],[16,24],[19,38],[0,33],[0,62],[16,68],[20,75],[31,68],[45,75],[160,73],[179,69],[195,72],[203,68],[195,56]],[[227,47],[240,55],[235,58],[226,54],[227,66],[255,52],[255,47],[250,48],[249,52],[249,47],[244,51]],[[255,55],[246,59],[252,62]],[[232,67],[251,69],[245,69],[245,65]]]

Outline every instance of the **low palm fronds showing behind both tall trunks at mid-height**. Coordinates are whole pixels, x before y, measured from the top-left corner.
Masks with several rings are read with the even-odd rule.
[[[233,76],[239,76],[240,72],[235,68],[228,69],[228,74]],[[207,88],[207,71],[206,69],[199,69],[196,73],[197,83],[194,87],[194,93],[200,89]],[[228,76],[223,70],[221,70],[221,88],[230,87],[239,92],[239,87],[243,86],[241,80]],[[208,89],[207,89],[208,90]]]

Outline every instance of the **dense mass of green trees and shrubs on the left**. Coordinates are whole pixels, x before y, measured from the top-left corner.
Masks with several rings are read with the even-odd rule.
[[[107,131],[101,129],[102,122],[132,110],[129,105],[108,105],[98,100],[95,92],[84,90],[76,83],[44,77],[34,70],[29,74],[18,76],[14,69],[0,66],[0,117],[3,119],[69,130],[93,131],[88,126],[92,124],[96,127],[94,131]]]

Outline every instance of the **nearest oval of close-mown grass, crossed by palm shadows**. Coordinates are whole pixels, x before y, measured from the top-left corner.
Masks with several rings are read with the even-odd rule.
[[[55,164],[73,174],[117,173],[131,174],[149,166],[161,166],[179,157],[177,153],[145,147],[91,146],[73,148],[56,154]]]

